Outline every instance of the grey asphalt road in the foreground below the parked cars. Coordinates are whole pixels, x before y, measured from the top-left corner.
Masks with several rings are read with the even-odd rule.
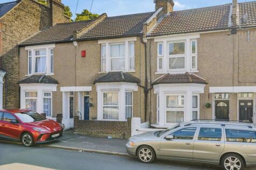
[[[18,144],[0,143],[0,170],[37,170],[37,169],[67,169],[67,170],[103,170],[103,169],[221,169],[207,165],[179,164],[170,161],[156,161],[153,164],[143,164],[136,158],[111,156],[98,153],[77,152],[47,147],[24,147]]]

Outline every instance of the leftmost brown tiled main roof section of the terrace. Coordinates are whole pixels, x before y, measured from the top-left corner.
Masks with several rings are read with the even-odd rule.
[[[88,26],[91,21],[92,20],[56,24],[20,43],[20,46],[73,41],[74,32],[80,31]]]

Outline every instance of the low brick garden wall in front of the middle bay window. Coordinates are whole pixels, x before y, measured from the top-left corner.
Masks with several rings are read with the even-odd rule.
[[[96,136],[112,136],[115,138],[131,137],[131,119],[127,121],[79,120],[74,116],[74,132]]]

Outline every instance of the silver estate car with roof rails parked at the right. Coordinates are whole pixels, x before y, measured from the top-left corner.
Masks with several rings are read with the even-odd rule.
[[[172,159],[241,170],[256,166],[256,127],[224,121],[183,122],[167,130],[133,136],[126,150],[145,163],[157,158]]]

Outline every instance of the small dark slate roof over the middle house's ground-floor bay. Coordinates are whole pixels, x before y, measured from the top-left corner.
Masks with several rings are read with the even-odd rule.
[[[125,72],[109,72],[104,76],[95,80],[96,83],[113,83],[113,82],[126,82],[126,83],[140,83],[140,80]]]

